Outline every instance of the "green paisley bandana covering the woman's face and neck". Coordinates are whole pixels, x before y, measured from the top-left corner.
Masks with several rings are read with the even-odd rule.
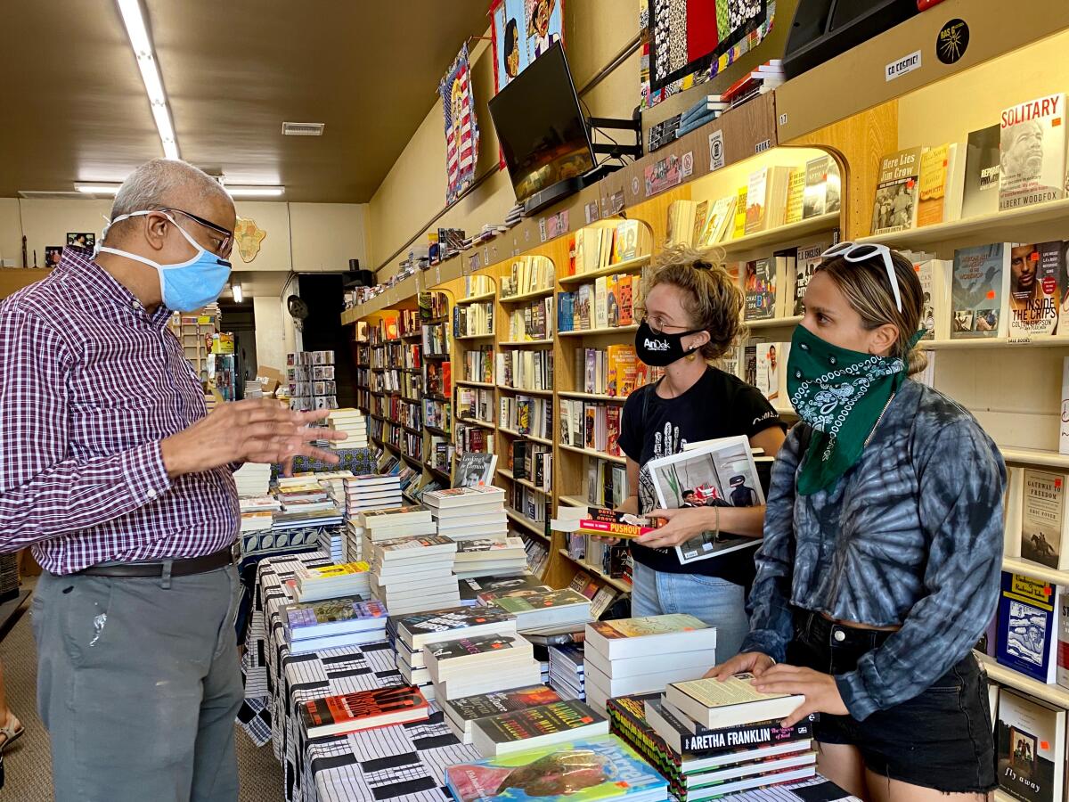
[[[910,345],[916,343],[924,329]],[[794,329],[787,359],[787,392],[812,429],[797,474],[797,492],[831,489],[861,459],[890,398],[905,380],[899,357],[840,349],[804,326]]]

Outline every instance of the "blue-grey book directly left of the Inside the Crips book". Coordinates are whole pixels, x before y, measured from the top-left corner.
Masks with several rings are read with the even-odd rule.
[[[1008,243],[959,248],[950,282],[950,339],[1005,337],[1010,284]]]

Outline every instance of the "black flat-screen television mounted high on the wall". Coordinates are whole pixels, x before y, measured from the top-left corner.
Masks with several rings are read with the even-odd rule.
[[[516,199],[594,169],[590,133],[558,42],[490,101]]]

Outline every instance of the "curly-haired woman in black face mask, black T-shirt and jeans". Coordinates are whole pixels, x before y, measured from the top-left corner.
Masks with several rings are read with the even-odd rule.
[[[727,659],[739,651],[748,631],[745,593],[754,577],[755,550],[684,565],[675,546],[717,529],[760,538],[764,508],[734,506],[743,499],[752,504],[756,493],[733,487],[716,502],[722,506],[694,502],[698,506],[655,509],[646,466],[654,458],[682,451],[686,443],[716,437],[743,434],[768,454],[784,443],[783,423],[764,396],[709,364],[734,348],[743,327],[742,292],[710,259],[672,248],[654,260],[647,279],[635,350],[644,363],[664,367],[666,373],[633,392],[623,407],[619,442],[628,457],[631,496],[620,509],[668,519],[632,543],[632,615],[690,613],[717,628],[716,654]]]

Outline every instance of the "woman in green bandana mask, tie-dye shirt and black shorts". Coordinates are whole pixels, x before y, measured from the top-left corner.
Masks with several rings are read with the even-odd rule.
[[[824,253],[787,364],[802,422],[772,473],[742,651],[710,672],[801,694],[819,768],[872,802],[986,800],[987,679],[1006,468],[965,410],[909,379],[924,293],[884,246]],[[778,662],[777,662],[778,661]]]

